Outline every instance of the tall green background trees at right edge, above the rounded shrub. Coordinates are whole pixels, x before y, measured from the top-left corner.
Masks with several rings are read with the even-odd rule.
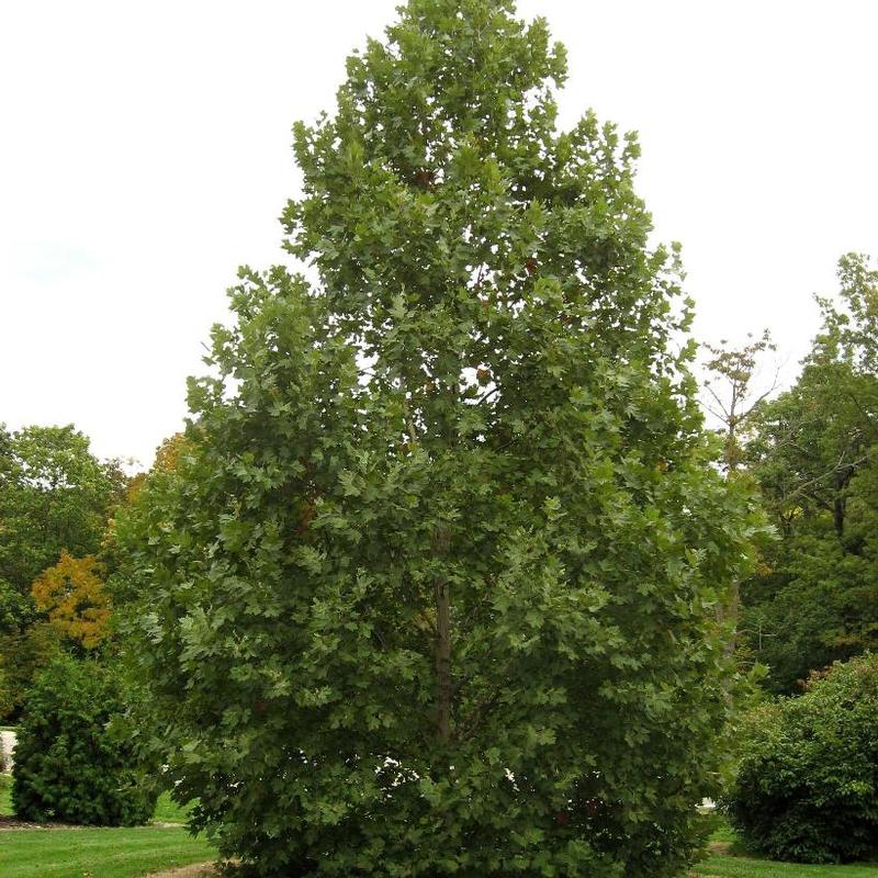
[[[747,449],[780,540],[744,585],[745,627],[769,634],[757,654],[777,691],[878,646],[878,272],[848,255],[838,278],[799,380]]]

